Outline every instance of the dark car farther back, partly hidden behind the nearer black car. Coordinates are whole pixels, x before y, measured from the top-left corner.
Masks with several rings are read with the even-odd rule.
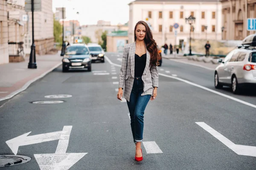
[[[92,55],[92,62],[105,62],[105,52],[98,44],[88,44],[90,54]]]

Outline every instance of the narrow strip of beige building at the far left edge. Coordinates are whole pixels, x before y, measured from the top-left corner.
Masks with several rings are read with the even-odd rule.
[[[7,1],[0,0],[0,64],[9,62]]]

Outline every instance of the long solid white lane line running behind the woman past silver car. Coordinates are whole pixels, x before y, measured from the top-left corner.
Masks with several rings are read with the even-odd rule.
[[[118,67],[121,67],[121,65],[114,64],[113,62],[111,62],[111,60],[108,59],[108,57],[106,57],[106,58],[107,58],[107,60],[108,60],[108,62],[109,62],[110,64],[113,64],[113,65],[116,65],[116,66],[118,66]],[[209,89],[209,88],[206,88],[206,87],[204,87],[204,86],[202,86],[202,85],[198,85],[198,84],[195,84],[195,83],[193,83],[193,82],[189,82],[189,81],[187,81],[187,80],[185,80],[185,79],[181,79],[181,78],[174,77],[174,76],[169,76],[169,75],[162,74],[162,73],[158,73],[158,74],[159,74],[160,76],[163,76],[163,77],[169,77],[169,78],[172,78],[172,79],[177,79],[177,80],[179,80],[179,81],[181,81],[181,82],[185,82],[185,83],[187,83],[187,84],[189,84],[189,85],[193,85],[193,86],[195,86],[195,87],[204,89],[204,90],[209,91],[209,92],[212,92],[212,93],[214,93],[214,94],[218,94],[218,95],[220,95],[220,96],[226,97],[226,98],[228,98],[228,99],[234,100],[234,101],[239,102],[239,103],[242,103],[242,104],[244,104],[244,105],[247,105],[247,106],[256,108],[256,105],[253,105],[253,104],[251,104],[251,103],[249,103],[249,102],[245,102],[245,101],[243,101],[243,100],[237,99],[237,98],[232,97],[232,96],[229,96],[229,95],[227,95],[227,94],[222,94],[222,93],[220,93],[220,92],[218,92],[218,91],[214,91],[214,90]]]

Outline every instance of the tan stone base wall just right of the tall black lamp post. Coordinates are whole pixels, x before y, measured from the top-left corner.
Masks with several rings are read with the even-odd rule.
[[[35,40],[35,52],[39,55],[44,55],[49,52],[54,45],[54,38],[48,38],[43,40]]]

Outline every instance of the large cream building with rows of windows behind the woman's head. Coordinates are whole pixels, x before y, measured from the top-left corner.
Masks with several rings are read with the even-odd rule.
[[[185,18],[190,15],[196,18],[192,38],[221,40],[221,3],[217,0],[135,0],[129,4],[129,43],[134,42],[134,26],[140,20],[151,26],[159,46],[187,42],[190,26]],[[176,38],[175,23],[179,24]]]

